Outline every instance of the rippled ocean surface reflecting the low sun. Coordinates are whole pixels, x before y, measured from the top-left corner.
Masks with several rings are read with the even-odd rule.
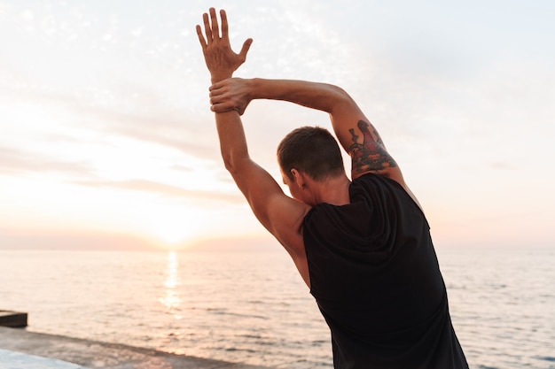
[[[555,368],[554,250],[437,254],[471,368]],[[0,250],[0,310],[27,311],[29,331],[332,368],[328,328],[285,251]]]

